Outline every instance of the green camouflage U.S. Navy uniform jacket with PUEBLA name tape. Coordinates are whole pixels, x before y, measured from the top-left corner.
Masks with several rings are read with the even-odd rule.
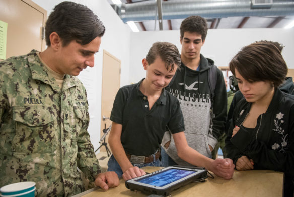
[[[100,173],[87,128],[83,84],[65,75],[62,90],[32,50],[0,62],[0,187],[36,182],[37,196],[70,196]]]

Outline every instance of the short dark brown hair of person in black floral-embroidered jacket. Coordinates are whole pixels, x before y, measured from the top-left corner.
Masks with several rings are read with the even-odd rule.
[[[288,68],[280,50],[270,42],[256,42],[245,46],[229,63],[235,75],[235,69],[249,82],[270,81],[275,88],[286,78]]]

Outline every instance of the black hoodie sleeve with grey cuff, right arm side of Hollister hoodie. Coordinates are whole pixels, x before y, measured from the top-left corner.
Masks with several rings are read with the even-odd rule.
[[[218,138],[225,131],[227,120],[227,90],[224,76],[221,70],[217,69],[217,82],[213,98],[211,122],[208,132],[208,144],[214,148]]]

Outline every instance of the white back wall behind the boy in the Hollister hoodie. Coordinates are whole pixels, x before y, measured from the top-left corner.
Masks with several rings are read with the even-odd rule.
[[[209,29],[201,53],[213,59],[217,66],[228,66],[231,58],[242,47],[259,40],[272,40],[285,45],[282,55],[288,68],[294,68],[294,28]],[[156,41],[171,42],[181,52],[179,30],[131,33],[130,83],[136,83],[145,76],[141,61]]]

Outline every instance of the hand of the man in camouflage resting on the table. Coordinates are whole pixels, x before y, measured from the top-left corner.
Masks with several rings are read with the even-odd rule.
[[[104,172],[97,175],[94,183],[103,190],[107,190],[108,188],[117,187],[119,179],[115,172]]]

